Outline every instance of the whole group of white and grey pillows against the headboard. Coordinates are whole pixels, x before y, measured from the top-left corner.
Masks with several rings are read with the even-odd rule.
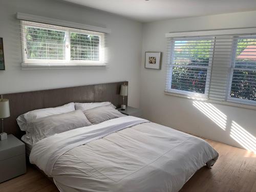
[[[54,134],[123,117],[111,102],[68,103],[56,108],[39,109],[18,116],[23,140],[31,145]]]

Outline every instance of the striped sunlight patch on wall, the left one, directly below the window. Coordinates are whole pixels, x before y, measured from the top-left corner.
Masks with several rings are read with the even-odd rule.
[[[227,116],[214,105],[201,101],[193,101],[193,105],[209,119],[214,121],[221,129],[226,130]]]

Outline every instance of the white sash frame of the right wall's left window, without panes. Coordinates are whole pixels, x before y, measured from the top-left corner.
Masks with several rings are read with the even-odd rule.
[[[200,38],[193,38],[193,37],[184,37],[180,39],[190,39],[190,40],[200,40]],[[212,40],[211,42],[211,48],[210,48],[210,54],[209,54],[209,62],[208,66],[186,66],[186,65],[174,65],[174,49],[175,49],[175,41],[176,39],[172,39],[170,47],[172,48],[170,50],[170,58],[168,61],[168,65],[170,65],[169,68],[169,83],[168,83],[168,88],[167,88],[167,93],[174,93],[182,96],[188,96],[189,98],[197,98],[201,100],[207,100],[208,99],[208,94],[209,94],[209,88],[210,88],[210,77],[211,77],[211,67],[212,67],[212,58],[214,56],[214,47],[215,47],[215,38],[213,37],[205,37],[204,39],[209,39]],[[198,92],[192,92],[192,91],[185,91],[185,90],[177,90],[177,89],[172,89],[172,78],[173,78],[173,68],[174,67],[184,67],[184,68],[193,68],[193,69],[206,69],[206,81],[205,81],[205,90],[204,93],[198,93]]]

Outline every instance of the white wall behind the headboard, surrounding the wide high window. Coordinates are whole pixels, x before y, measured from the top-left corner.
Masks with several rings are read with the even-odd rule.
[[[107,38],[109,68],[21,70],[17,12],[47,16],[112,29]],[[6,70],[0,71],[0,94],[129,81],[129,104],[139,105],[142,24],[121,16],[63,1],[0,1],[0,37],[4,38]]]

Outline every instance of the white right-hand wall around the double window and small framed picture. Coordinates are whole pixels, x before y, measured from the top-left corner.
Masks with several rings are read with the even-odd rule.
[[[201,110],[206,109],[206,114],[201,112],[193,105],[193,100],[181,97],[166,95],[163,93],[165,87],[165,68],[166,63],[166,39],[165,33],[178,31],[213,30],[228,28],[247,28],[256,27],[256,11],[232,14],[221,14],[213,16],[203,16],[194,18],[182,18],[163,20],[161,22],[146,23],[143,25],[143,45],[142,45],[142,64],[141,64],[141,96],[140,106],[144,117],[154,122],[164,124],[175,129],[193,133],[216,141],[230,145],[242,147],[241,142],[237,142],[230,137],[232,121],[235,121],[248,131],[251,136],[256,136],[256,111],[237,108],[234,106],[211,104],[208,108],[205,104],[201,105]],[[162,70],[144,69],[144,52],[162,51],[163,68]],[[219,115],[212,116],[213,111]],[[223,117],[222,117],[223,116]],[[226,120],[225,120],[226,116]],[[221,121],[226,124],[225,130],[218,124]],[[248,133],[238,128],[240,138],[243,142],[252,147],[253,143],[246,139]],[[246,136],[242,136],[242,135]]]

